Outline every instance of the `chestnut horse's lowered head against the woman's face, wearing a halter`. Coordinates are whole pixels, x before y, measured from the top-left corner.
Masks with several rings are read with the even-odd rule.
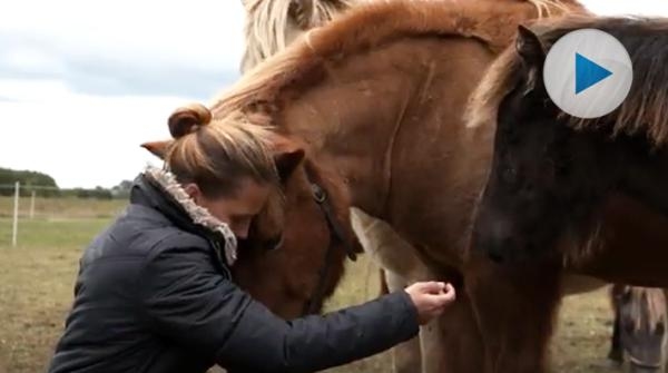
[[[143,146],[163,157],[169,141]],[[276,314],[317,313],[343,276],[346,256],[362,247],[352,229],[340,184],[305,158],[304,148],[275,136],[282,185],[239,243],[235,281]]]

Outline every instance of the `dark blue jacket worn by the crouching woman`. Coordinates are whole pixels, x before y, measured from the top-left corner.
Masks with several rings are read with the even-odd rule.
[[[86,249],[50,373],[312,372],[418,333],[396,292],[325,316],[284,321],[232,281],[218,245],[139,176],[130,205]]]

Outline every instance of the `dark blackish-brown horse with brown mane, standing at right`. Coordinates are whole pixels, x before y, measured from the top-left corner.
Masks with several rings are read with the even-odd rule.
[[[542,82],[549,48],[580,28],[613,35],[633,61],[626,101],[593,120],[561,112]],[[536,343],[531,333],[509,326],[525,323],[530,313],[544,316],[532,316],[532,327],[551,328],[564,269],[668,286],[667,31],[665,19],[589,17],[521,28],[517,46],[495,61],[473,95],[470,129],[494,134],[468,262],[479,325],[493,336],[488,349]],[[505,277],[501,284],[500,277]],[[507,306],[487,314],[491,296],[504,297]]]

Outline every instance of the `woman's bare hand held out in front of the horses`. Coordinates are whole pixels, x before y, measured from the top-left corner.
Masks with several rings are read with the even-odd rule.
[[[445,306],[455,300],[454,287],[440,282],[419,282],[405,288],[418,308],[420,325],[443,313]]]

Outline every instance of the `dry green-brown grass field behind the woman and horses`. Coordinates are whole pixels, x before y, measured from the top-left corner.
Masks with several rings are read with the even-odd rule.
[[[72,298],[78,259],[86,244],[109,223],[122,202],[43,200],[39,218],[19,224],[10,247],[11,200],[0,198],[0,373],[43,372]],[[39,214],[38,214],[39,213]],[[374,268],[365,258],[351,266],[334,310],[377,294]],[[606,373],[611,314],[605,291],[564,300],[551,345],[556,372]],[[381,354],[331,373],[390,372]]]

